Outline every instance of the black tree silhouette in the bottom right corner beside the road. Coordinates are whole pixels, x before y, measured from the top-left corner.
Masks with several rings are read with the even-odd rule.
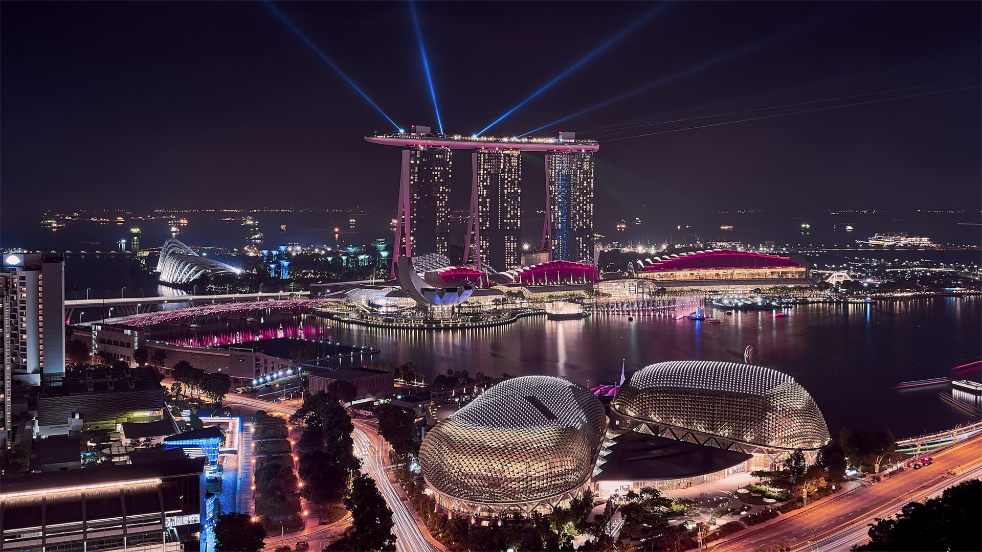
[[[870,524],[870,541],[852,550],[982,550],[980,493],[982,482],[971,479],[923,504],[909,502],[896,520],[877,519]]]

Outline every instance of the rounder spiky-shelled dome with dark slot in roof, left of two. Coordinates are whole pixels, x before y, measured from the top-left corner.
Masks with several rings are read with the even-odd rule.
[[[587,389],[552,376],[507,379],[426,434],[419,464],[446,510],[530,513],[588,483],[607,419]]]

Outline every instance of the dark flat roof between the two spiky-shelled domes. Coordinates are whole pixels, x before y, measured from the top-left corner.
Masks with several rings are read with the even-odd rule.
[[[732,468],[752,455],[628,431],[614,439],[612,451],[594,481],[657,481],[696,477]]]

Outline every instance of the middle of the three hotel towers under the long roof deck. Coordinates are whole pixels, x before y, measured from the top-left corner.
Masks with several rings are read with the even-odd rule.
[[[518,149],[478,149],[471,153],[477,209],[477,228],[480,230],[481,262],[496,270],[520,266],[521,249],[521,151]],[[471,217],[473,213],[471,213]],[[476,236],[475,236],[476,237]],[[474,238],[466,237],[467,243]],[[476,260],[476,250],[470,254]]]

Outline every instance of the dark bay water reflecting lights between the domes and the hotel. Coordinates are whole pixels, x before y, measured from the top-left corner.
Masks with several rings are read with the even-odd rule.
[[[950,385],[897,390],[900,381],[947,377],[979,380],[978,368],[950,368],[982,358],[982,299],[942,298],[893,303],[797,306],[784,317],[734,312],[719,324],[635,316],[596,315],[584,320],[526,318],[479,330],[411,332],[362,328],[313,316],[265,318],[257,329],[278,328],[345,345],[371,345],[376,360],[411,361],[431,379],[448,368],[499,375],[551,374],[577,383],[614,383],[622,359],[628,375],[647,364],[676,359],[753,361],[791,374],[815,397],[830,429],[889,428],[900,437],[954,426],[970,416],[943,402]],[[228,335],[244,321],[198,320],[191,334]],[[331,326],[323,328],[323,326]],[[166,328],[160,330],[166,332]],[[175,330],[172,330],[172,332]],[[178,334],[172,334],[176,338]],[[156,336],[155,336],[156,337]],[[157,339],[164,339],[161,335]],[[959,396],[959,399],[966,400]],[[979,407],[978,399],[974,406]]]

